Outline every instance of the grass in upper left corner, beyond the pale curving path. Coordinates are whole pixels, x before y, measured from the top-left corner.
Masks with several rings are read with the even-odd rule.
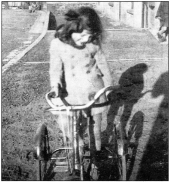
[[[29,13],[25,9],[2,9],[2,60],[12,50],[23,46],[38,14],[38,11]]]

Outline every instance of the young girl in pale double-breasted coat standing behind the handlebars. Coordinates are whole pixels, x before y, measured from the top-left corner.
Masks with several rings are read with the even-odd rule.
[[[66,97],[71,105],[88,103],[103,87],[112,85],[110,70],[101,49],[102,24],[97,13],[89,7],[69,10],[66,23],[57,28],[50,46],[50,85],[55,97]],[[98,103],[106,101],[100,97]],[[96,151],[101,150],[102,112],[106,107],[94,108]],[[64,125],[66,135],[68,121]],[[70,137],[70,136],[69,136]]]

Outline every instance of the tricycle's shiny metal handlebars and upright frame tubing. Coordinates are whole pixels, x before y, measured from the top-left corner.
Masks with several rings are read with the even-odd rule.
[[[66,115],[68,115],[69,120],[72,120],[72,126],[71,126],[72,127],[72,146],[68,147],[68,148],[57,149],[52,154],[54,154],[55,152],[57,152],[59,150],[72,150],[73,151],[73,167],[72,167],[72,170],[70,170],[70,171],[71,171],[71,173],[74,173],[75,170],[79,169],[80,170],[80,180],[84,180],[84,179],[83,179],[83,161],[82,161],[82,157],[83,157],[82,148],[83,147],[81,147],[79,145],[80,122],[79,122],[79,118],[78,118],[78,112],[80,112],[80,114],[82,114],[82,110],[90,109],[92,107],[100,107],[100,106],[108,105],[109,102],[105,102],[105,103],[101,103],[101,104],[95,104],[95,102],[105,92],[113,91],[114,89],[118,89],[118,88],[119,88],[119,86],[105,87],[105,88],[101,89],[95,95],[95,97],[92,101],[90,101],[86,105],[80,105],[80,106],[78,106],[78,105],[71,106],[66,102],[66,100],[64,98],[60,98],[60,101],[62,104],[57,106],[52,103],[51,98],[49,97],[49,93],[46,94],[46,100],[47,100],[48,104],[51,106],[51,108],[48,109],[48,111],[50,111],[54,115],[58,115],[61,113],[66,114]],[[120,119],[118,119],[118,121],[120,121]],[[115,123],[115,125],[118,125],[118,124],[119,124],[120,130],[121,130],[121,124]],[[90,118],[87,119],[87,125],[88,125],[87,127],[89,129]],[[90,151],[90,133],[89,132],[88,132],[88,135],[89,135],[89,151]],[[120,133],[120,135],[121,135],[121,133]],[[123,136],[120,136],[120,138],[123,138]],[[124,146],[124,143],[122,143],[122,145]],[[122,151],[122,153],[119,155],[123,157],[124,151]],[[68,162],[69,162],[69,159],[68,159]]]

